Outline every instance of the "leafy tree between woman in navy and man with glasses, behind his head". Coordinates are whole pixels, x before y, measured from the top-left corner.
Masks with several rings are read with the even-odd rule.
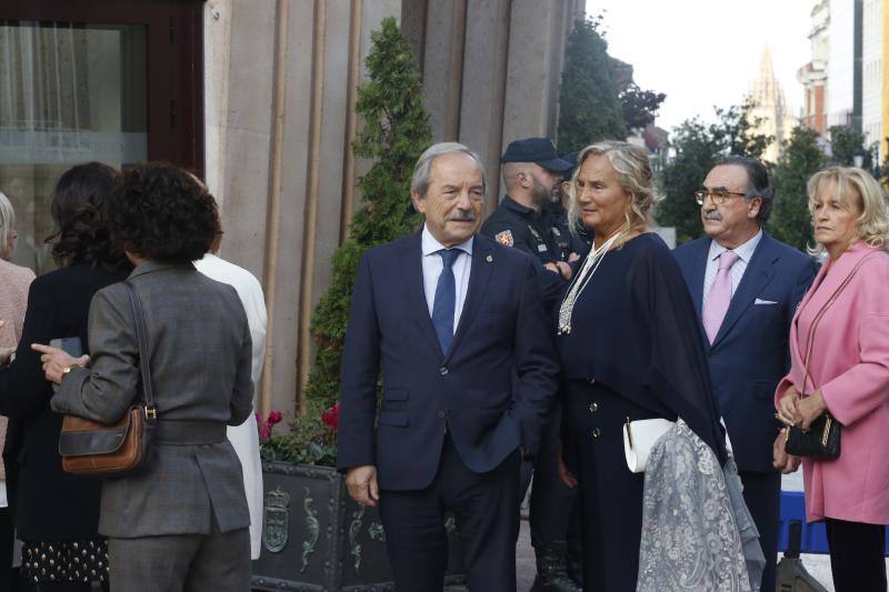
[[[717,122],[705,124],[695,118],[682,122],[672,134],[675,159],[661,172],[665,199],[658,204],[655,218],[662,225],[676,227],[680,244],[697,239],[703,232],[700,207],[692,197],[695,190],[721,157],[738,154],[760,158],[771,138],[753,132],[751,106],[716,109]]]

